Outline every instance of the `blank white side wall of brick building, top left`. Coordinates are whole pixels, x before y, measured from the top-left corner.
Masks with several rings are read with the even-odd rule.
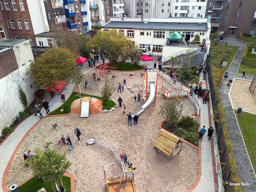
[[[50,31],[43,0],[27,0],[34,34]]]

